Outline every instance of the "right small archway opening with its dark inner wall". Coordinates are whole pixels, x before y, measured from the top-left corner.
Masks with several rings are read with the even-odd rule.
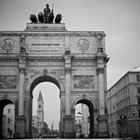
[[[94,137],[94,108],[87,99],[81,99],[75,106],[75,126],[77,138]]]

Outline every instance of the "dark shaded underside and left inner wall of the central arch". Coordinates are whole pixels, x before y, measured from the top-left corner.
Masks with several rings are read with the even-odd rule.
[[[37,78],[35,78],[31,85],[30,85],[30,117],[29,117],[29,126],[30,126],[30,133],[32,134],[32,105],[33,105],[33,90],[35,89],[35,87],[41,83],[53,83],[54,85],[56,85],[59,89],[59,98],[61,98],[61,88],[60,88],[60,84],[59,81],[56,80],[56,78],[52,77],[52,76],[48,76],[48,75],[43,75],[43,76],[39,76]],[[60,108],[60,107],[59,107]],[[61,108],[60,108],[61,109]]]

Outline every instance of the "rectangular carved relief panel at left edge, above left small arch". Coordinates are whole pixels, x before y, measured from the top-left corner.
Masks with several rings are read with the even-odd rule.
[[[0,89],[16,89],[17,76],[0,75]]]

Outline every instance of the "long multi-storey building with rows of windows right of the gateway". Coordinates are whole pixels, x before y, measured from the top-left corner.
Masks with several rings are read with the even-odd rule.
[[[140,71],[127,72],[106,93],[110,137],[140,137]]]

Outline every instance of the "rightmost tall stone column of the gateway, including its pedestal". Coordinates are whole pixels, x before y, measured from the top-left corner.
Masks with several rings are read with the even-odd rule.
[[[107,133],[107,116],[105,114],[105,84],[104,79],[104,69],[105,69],[105,60],[106,56],[100,54],[97,56],[97,76],[98,76],[98,94],[99,94],[99,116],[98,120],[98,136],[99,137],[108,137]]]

